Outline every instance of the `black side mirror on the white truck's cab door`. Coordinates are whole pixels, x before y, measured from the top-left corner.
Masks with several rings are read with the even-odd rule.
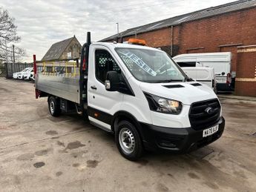
[[[108,91],[119,90],[119,76],[116,71],[108,71],[105,80],[105,89]]]

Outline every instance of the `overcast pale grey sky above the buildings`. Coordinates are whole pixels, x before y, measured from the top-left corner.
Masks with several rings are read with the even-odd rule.
[[[32,55],[42,59],[50,45],[76,35],[81,44],[86,32],[99,41],[119,31],[153,21],[225,4],[234,0],[0,0],[18,26],[22,41],[16,44],[27,51],[24,62]]]

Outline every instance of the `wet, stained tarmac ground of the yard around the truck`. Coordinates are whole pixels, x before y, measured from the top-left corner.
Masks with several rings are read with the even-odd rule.
[[[226,128],[186,155],[124,159],[114,136],[50,116],[33,83],[0,78],[0,191],[255,191],[256,102],[220,97]]]

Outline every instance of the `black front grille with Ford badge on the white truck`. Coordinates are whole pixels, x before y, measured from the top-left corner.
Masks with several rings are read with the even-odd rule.
[[[211,107],[211,113],[206,112],[209,107]],[[217,99],[195,102],[191,105],[188,116],[191,128],[194,130],[209,128],[220,119],[220,102]]]

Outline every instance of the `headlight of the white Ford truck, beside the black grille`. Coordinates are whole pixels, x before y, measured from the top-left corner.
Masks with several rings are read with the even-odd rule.
[[[181,102],[172,99],[166,99],[160,96],[154,96],[149,93],[144,93],[148,100],[148,105],[151,110],[160,113],[180,114],[183,105]]]

